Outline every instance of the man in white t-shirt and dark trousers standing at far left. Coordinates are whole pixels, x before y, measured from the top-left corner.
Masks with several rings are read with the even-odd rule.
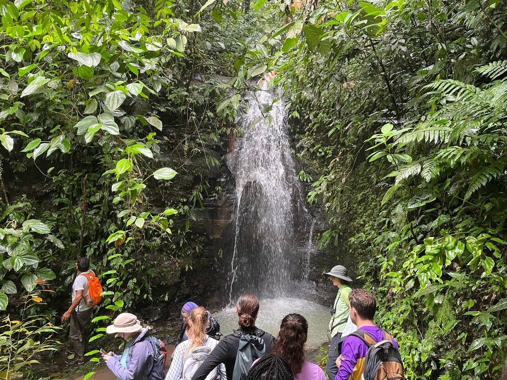
[[[72,285],[72,303],[63,313],[62,321],[70,318],[70,338],[74,342],[74,359],[67,360],[69,364],[83,364],[85,362],[86,325],[90,321],[93,306],[89,305],[88,279],[81,274],[90,272],[90,260],[80,257],[76,263],[78,275]]]

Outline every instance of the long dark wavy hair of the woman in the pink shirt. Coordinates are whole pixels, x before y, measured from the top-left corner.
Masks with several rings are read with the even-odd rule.
[[[291,366],[296,376],[305,361],[305,343],[308,336],[308,322],[300,314],[288,314],[282,319],[280,331],[271,348],[271,353],[280,355]]]

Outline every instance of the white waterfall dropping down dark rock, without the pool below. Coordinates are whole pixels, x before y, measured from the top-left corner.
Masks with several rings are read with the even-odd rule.
[[[228,162],[236,184],[229,302],[245,292],[288,295],[296,262],[294,199],[299,183],[285,108],[272,92],[259,91],[250,96],[241,125],[244,136]]]

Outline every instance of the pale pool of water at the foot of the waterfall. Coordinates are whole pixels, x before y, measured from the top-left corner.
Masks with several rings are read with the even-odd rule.
[[[308,339],[305,346],[307,350],[318,348],[328,340],[326,331],[331,318],[330,309],[305,299],[261,299],[256,326],[276,336],[282,318],[291,313],[301,314],[308,321]],[[235,306],[226,307],[214,313],[213,317],[219,321],[224,335],[238,328]]]

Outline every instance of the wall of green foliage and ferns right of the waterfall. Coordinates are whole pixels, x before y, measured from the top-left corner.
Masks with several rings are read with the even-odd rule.
[[[281,8],[284,24],[266,32],[268,70],[303,173],[316,178],[308,200],[329,217],[320,246],[362,259],[409,378],[497,378],[507,351],[504,4]]]

